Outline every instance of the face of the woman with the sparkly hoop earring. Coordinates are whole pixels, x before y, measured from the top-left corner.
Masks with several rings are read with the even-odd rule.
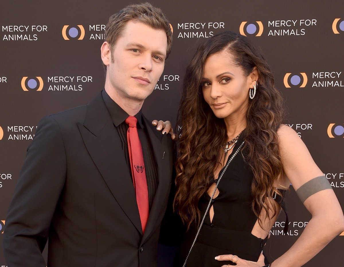
[[[242,119],[248,109],[248,91],[255,83],[234,64],[233,56],[223,51],[210,55],[203,68],[204,100],[218,118]],[[254,78],[253,78],[254,79]]]

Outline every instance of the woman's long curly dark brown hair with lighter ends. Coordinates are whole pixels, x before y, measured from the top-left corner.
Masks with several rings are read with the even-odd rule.
[[[249,38],[230,31],[217,34],[202,43],[186,68],[178,124],[182,125],[179,158],[176,163],[174,207],[188,228],[200,223],[198,201],[211,184],[211,177],[227,141],[226,126],[218,119],[202,93],[204,62],[210,55],[227,51],[247,76],[256,66],[259,84],[256,96],[249,99],[244,130],[245,161],[254,174],[252,210],[259,218],[266,211],[268,219],[277,213],[272,199],[273,183],[282,176],[277,130],[283,119],[283,99],[275,88],[275,79],[259,49]],[[248,97],[248,96],[247,96]],[[279,194],[279,192],[277,192]],[[270,204],[269,204],[270,203]]]

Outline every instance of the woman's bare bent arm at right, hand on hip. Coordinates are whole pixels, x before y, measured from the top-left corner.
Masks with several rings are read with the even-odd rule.
[[[303,188],[307,188],[308,185],[305,183],[315,177],[323,176],[323,173],[316,166],[307,147],[294,130],[281,125],[278,135],[286,181],[289,179],[295,191],[300,194],[298,189],[302,185],[304,185]],[[312,184],[312,182],[308,184]],[[319,253],[335,236],[344,231],[343,211],[337,197],[332,189],[324,188],[327,187],[315,185],[309,188],[310,196],[305,199],[303,204],[312,214],[312,219],[294,245],[273,261],[271,267],[302,266]]]

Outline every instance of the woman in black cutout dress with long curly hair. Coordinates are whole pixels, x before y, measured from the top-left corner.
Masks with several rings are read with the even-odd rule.
[[[343,232],[341,206],[298,134],[282,124],[282,97],[247,37],[207,39],[183,87],[174,205],[188,231],[175,266],[186,258],[186,266],[265,266],[262,247],[290,183],[312,219],[266,266],[302,266]]]

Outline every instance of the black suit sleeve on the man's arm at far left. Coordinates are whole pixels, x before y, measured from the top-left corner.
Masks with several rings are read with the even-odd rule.
[[[6,219],[3,248],[8,266],[46,266],[42,251],[65,177],[61,130],[52,116],[45,117],[28,147]]]

